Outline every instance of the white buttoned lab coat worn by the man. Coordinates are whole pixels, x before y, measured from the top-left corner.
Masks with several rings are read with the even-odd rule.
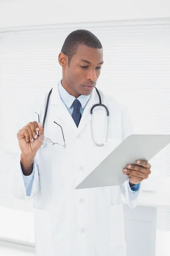
[[[35,157],[35,177],[31,196],[26,196],[23,177],[14,171],[13,192],[16,198],[34,199],[37,256],[125,256],[124,223],[121,192],[130,208],[136,207],[139,192],[133,193],[127,181],[122,186],[75,189],[75,187],[132,134],[127,109],[99,90],[102,103],[110,113],[108,142],[103,147],[94,145],[91,138],[90,109],[99,102],[93,90],[85,107],[79,127],[53,88],[45,121],[45,136],[62,143],[62,126],[66,148],[45,144]],[[43,120],[47,94],[39,102],[40,121]],[[103,115],[104,113],[104,115]],[[37,120],[32,114],[32,120]],[[105,112],[94,111],[96,140],[105,138]],[[21,128],[21,127],[20,127]],[[103,135],[104,134],[104,135]]]

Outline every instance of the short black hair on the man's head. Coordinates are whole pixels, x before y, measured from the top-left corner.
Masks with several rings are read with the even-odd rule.
[[[99,39],[90,31],[86,29],[74,30],[67,36],[61,49],[61,52],[68,57],[68,65],[71,58],[77,53],[80,44],[91,48],[103,48]]]

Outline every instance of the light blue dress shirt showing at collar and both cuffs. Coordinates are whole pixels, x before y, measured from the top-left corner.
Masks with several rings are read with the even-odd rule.
[[[73,113],[73,102],[76,99],[74,96],[70,95],[65,88],[62,86],[61,82],[58,85],[58,90],[59,90],[59,95],[62,99],[62,102],[65,104],[65,107],[68,109],[69,113],[72,115]],[[83,111],[85,110],[85,106],[88,103],[88,100],[90,99],[91,94],[86,96],[86,95],[80,95],[77,99],[79,100],[79,102],[81,103],[82,107],[80,108],[80,113],[82,115]],[[34,165],[35,165],[35,161],[34,161]],[[22,169],[21,169],[22,172]],[[32,184],[34,181],[34,167],[33,167],[33,172],[31,173],[31,175],[29,176],[25,176],[23,175],[23,180],[24,180],[24,184],[25,184],[25,188],[26,188],[26,195],[30,196],[31,195],[31,190],[32,190]],[[139,190],[139,184],[131,186],[130,188],[132,189],[133,193],[137,192]]]

